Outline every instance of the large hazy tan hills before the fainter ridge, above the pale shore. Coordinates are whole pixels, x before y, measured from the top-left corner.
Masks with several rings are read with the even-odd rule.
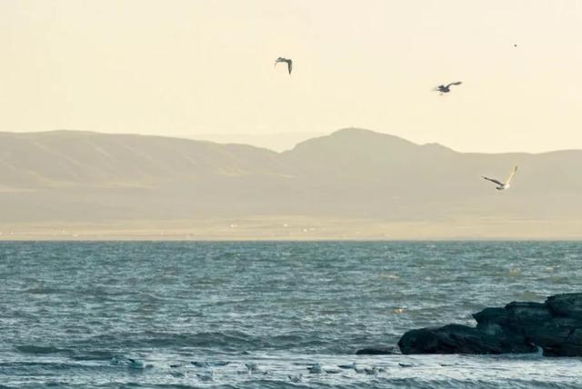
[[[582,236],[580,150],[457,153],[348,128],[276,153],[163,136],[55,131],[0,133],[0,165],[5,226],[261,217],[453,226],[457,220],[564,221],[564,234]],[[519,172],[508,191],[481,178],[504,180],[513,165]],[[451,234],[457,235],[462,231]]]

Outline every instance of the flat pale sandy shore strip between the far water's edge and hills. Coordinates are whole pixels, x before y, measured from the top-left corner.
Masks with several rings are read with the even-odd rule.
[[[577,220],[389,222],[303,216],[0,224],[0,241],[581,241]]]

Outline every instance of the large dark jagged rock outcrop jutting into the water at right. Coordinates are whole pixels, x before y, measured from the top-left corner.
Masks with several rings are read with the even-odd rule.
[[[473,314],[476,327],[449,324],[406,332],[403,354],[582,356],[582,293],[557,294],[544,304],[510,303]]]

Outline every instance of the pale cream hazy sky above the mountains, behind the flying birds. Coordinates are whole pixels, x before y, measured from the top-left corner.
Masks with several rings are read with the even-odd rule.
[[[582,148],[580,39],[577,0],[3,0],[0,130]]]

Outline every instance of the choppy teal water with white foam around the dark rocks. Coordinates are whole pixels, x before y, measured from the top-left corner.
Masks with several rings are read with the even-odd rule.
[[[1,243],[0,388],[579,388],[579,358],[355,353],[580,292],[581,259],[567,242]],[[306,370],[352,362],[382,371]]]

